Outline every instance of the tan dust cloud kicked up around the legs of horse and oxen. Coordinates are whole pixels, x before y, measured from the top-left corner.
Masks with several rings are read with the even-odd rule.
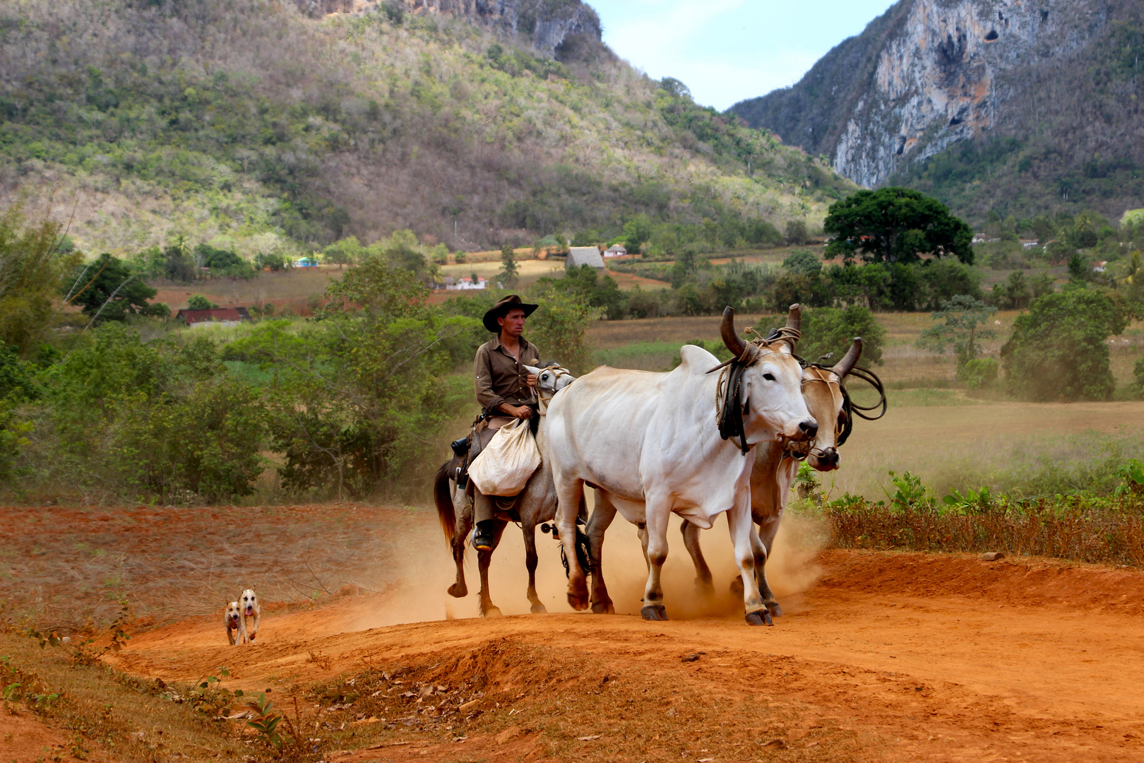
[[[593,503],[589,491],[589,508]],[[664,565],[664,603],[669,618],[741,617],[742,597],[731,593],[731,580],[739,577],[734,565],[726,516],[700,533],[704,556],[710,566],[714,593],[705,594],[696,582],[694,566],[680,533],[681,520],[673,518],[668,531],[668,558]],[[807,590],[821,574],[813,559],[823,547],[825,534],[816,522],[800,515],[782,519],[766,564],[768,580],[785,609],[792,597]],[[434,523],[432,532],[411,537],[397,555],[397,579],[389,593],[374,601],[366,611],[357,610],[342,623],[349,630],[365,630],[384,626],[431,620],[479,617],[477,591],[480,578],[477,555],[470,548],[466,555],[464,575],[469,594],[453,598],[446,591],[454,580],[454,566],[440,531]],[[537,591],[549,612],[572,612],[566,599],[567,579],[561,563],[559,543],[537,530]],[[639,614],[643,606],[648,566],[634,525],[617,516],[604,540],[604,580],[615,605],[617,614]],[[527,614],[529,573],[524,566],[524,540],[516,525],[505,530],[488,570],[490,594],[503,614]]]

